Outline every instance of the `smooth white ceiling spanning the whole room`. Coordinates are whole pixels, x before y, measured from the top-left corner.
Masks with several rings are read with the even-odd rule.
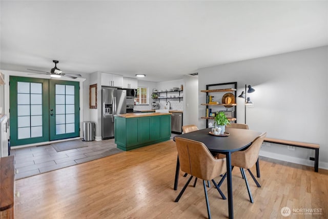
[[[328,45],[327,1],[1,1],[1,69],[170,81]],[[27,71],[27,70],[26,70]]]

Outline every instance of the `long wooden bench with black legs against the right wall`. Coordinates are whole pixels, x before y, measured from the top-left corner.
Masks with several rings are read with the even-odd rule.
[[[294,146],[294,147],[313,149],[315,151],[315,156],[310,157],[310,160],[314,161],[314,171],[318,172],[320,145],[304,143],[304,142],[287,141],[287,140],[281,140],[281,139],[270,138],[270,137],[264,138],[264,142],[270,142],[270,143],[280,144],[280,145],[289,145],[289,146]]]

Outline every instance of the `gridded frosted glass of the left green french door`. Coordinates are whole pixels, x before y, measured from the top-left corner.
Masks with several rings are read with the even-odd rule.
[[[18,139],[43,136],[42,104],[42,83],[17,82]]]

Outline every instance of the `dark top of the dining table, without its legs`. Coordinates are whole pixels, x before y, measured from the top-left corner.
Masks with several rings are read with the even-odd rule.
[[[230,135],[223,137],[211,135],[209,134],[210,131],[212,131],[212,128],[180,134],[175,137],[183,137],[197,142],[202,142],[210,151],[233,152],[248,147],[254,139],[261,134],[261,132],[249,129],[226,128],[226,132]]]

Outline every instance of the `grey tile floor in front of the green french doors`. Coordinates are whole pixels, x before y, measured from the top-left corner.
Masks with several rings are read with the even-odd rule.
[[[80,144],[81,148],[57,152],[52,147],[56,144],[74,144],[73,141]],[[11,149],[10,155],[15,156],[15,169],[18,170],[15,179],[18,180],[108,156],[108,151],[112,148],[116,148],[114,139],[90,142],[71,140],[44,146]]]

